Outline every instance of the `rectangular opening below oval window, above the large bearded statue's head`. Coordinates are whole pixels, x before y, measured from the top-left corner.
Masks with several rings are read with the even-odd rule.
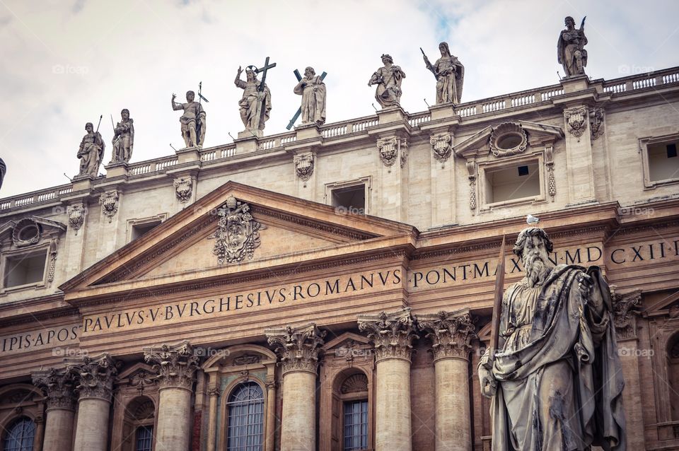
[[[485,178],[487,204],[540,196],[540,170],[536,161],[488,169]]]

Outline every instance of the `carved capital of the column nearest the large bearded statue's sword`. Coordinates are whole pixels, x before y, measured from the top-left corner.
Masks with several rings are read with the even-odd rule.
[[[476,336],[469,309],[417,315],[417,326],[431,339],[434,361],[441,358],[469,358],[470,341]]]

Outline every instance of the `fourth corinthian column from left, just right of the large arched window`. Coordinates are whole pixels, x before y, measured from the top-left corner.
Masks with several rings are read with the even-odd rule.
[[[281,356],[283,421],[281,451],[316,449],[316,373],[325,332],[304,327],[265,329],[269,345]],[[269,425],[272,426],[272,425]]]

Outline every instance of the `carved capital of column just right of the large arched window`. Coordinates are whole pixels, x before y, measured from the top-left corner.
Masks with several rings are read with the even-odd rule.
[[[273,327],[265,329],[269,346],[273,346],[283,367],[283,374],[291,371],[306,371],[316,374],[318,370],[318,348],[323,345],[325,331],[313,322],[303,327]]]

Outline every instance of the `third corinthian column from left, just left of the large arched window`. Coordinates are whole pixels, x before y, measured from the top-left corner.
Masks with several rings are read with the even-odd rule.
[[[156,451],[186,451],[191,440],[191,395],[198,356],[188,341],[144,348],[144,360],[158,372]]]

